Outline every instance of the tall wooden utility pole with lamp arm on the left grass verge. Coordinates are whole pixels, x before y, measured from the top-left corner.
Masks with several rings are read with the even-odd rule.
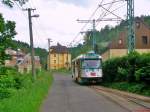
[[[39,15],[31,15],[31,11],[36,9],[27,8],[25,11],[28,11],[28,19],[29,19],[29,33],[30,33],[30,50],[31,50],[31,64],[32,64],[32,78],[33,81],[36,79],[35,74],[35,59],[34,59],[34,44],[33,44],[33,31],[32,31],[32,17],[39,17]]]

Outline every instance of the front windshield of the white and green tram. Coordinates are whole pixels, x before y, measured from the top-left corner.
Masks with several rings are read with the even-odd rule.
[[[90,69],[90,68],[101,68],[101,60],[83,60],[82,68]]]

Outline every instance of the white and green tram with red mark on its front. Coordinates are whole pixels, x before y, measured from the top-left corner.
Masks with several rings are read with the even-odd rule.
[[[101,82],[102,58],[94,52],[83,54],[72,61],[72,78],[78,83]]]

